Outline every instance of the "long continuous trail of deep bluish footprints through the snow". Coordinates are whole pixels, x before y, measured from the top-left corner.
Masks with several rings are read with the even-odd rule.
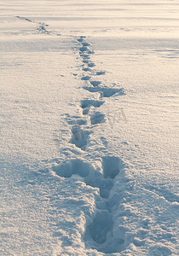
[[[123,96],[124,90],[116,87],[115,84],[102,85],[101,80],[93,78],[93,76],[98,78],[101,75],[104,76],[106,71],[94,69],[95,63],[91,61],[91,55],[94,55],[95,52],[90,49],[91,44],[87,42],[86,38],[81,36],[77,38],[77,42],[80,44],[78,55],[82,62],[82,76],[79,79],[84,83],[83,89],[88,90],[91,96],[92,94],[95,96],[95,99],[91,97],[82,99],[79,104],[85,121],[81,119],[83,120],[81,123],[77,122],[77,117],[73,117],[71,121],[72,137],[69,143],[80,149],[80,154],[83,156],[83,154],[90,153],[90,134],[94,132],[96,125],[106,122],[106,114],[101,112],[101,106],[105,103],[105,99],[117,94]],[[97,100],[96,96],[98,97]],[[105,144],[107,147],[107,143]],[[90,158],[94,160],[91,153]],[[117,180],[124,169],[124,163],[114,155],[101,155],[99,159],[101,172],[99,169],[95,169],[90,161],[80,159],[78,156],[53,166],[52,169],[60,177],[71,178],[73,175],[78,175],[86,186],[98,189],[99,195],[95,199],[95,218],[91,219],[90,224],[85,229],[84,243],[86,247],[101,253],[118,253],[124,249],[124,237],[114,236],[113,230],[115,212],[123,196],[115,194],[113,189],[116,188]]]

